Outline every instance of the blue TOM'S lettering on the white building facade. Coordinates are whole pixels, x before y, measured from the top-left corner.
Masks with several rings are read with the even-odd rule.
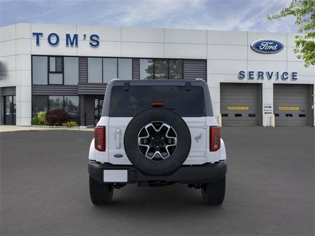
[[[42,32],[33,32],[32,36],[36,38],[36,46],[40,46],[41,37],[44,36]],[[99,46],[99,36],[97,34],[91,34],[89,37],[86,34],[82,35],[82,39],[80,40],[89,40],[89,44],[92,48],[97,48]],[[50,46],[56,47],[60,43],[60,37],[57,33],[50,33],[47,36],[47,42]],[[78,47],[79,39],[78,34],[65,34],[65,46],[66,47]]]

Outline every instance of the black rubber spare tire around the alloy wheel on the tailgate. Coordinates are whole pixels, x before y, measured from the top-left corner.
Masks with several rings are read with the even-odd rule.
[[[177,135],[175,151],[164,160],[150,160],[141,153],[138,147],[140,130],[153,121],[167,123]],[[191,138],[188,126],[180,116],[165,108],[152,108],[131,119],[126,128],[124,146],[130,162],[142,174],[147,176],[167,176],[178,170],[187,159]]]

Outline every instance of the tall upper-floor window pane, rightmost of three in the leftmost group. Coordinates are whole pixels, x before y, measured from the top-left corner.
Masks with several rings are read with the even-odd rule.
[[[79,82],[79,58],[64,57],[64,84],[77,85]]]

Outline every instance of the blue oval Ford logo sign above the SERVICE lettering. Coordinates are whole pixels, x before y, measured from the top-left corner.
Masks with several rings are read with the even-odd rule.
[[[279,53],[284,49],[284,45],[273,39],[259,39],[252,42],[251,48],[257,53],[272,54]]]

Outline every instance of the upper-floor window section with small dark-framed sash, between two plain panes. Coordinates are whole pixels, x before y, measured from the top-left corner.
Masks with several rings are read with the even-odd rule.
[[[49,57],[49,84],[63,84],[63,58]]]

